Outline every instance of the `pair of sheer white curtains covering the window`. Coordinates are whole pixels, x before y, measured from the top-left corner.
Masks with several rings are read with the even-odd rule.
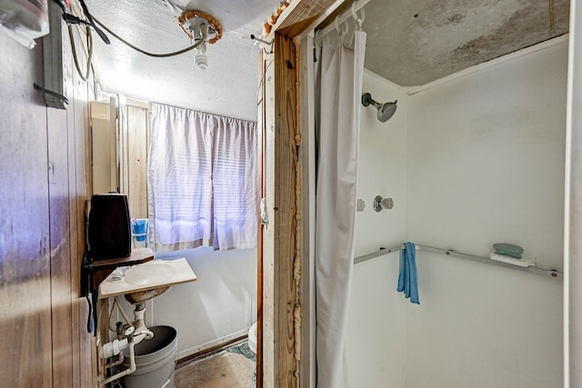
[[[156,251],[256,246],[256,123],[152,104],[150,242]]]

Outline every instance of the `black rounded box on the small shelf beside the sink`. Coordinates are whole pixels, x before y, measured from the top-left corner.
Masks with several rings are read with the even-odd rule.
[[[95,194],[91,197],[87,227],[89,254],[96,260],[131,254],[131,219],[125,194]]]

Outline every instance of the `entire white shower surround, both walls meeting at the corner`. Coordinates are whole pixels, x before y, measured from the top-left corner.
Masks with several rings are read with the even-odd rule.
[[[487,256],[507,242],[562,271],[567,39],[474,70],[399,98],[399,122],[363,112],[358,196],[395,209],[356,215],[356,254],[410,240]],[[364,87],[398,93],[370,73]],[[396,293],[397,254],[356,265],[352,386],[562,385],[561,280],[416,258],[420,305]]]

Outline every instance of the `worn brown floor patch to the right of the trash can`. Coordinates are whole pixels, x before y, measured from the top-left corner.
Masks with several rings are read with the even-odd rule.
[[[228,349],[178,364],[176,388],[254,388],[256,359],[248,344],[238,343]]]

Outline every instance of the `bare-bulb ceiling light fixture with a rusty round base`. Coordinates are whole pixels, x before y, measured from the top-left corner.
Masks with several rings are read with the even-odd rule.
[[[222,25],[212,15],[200,11],[185,11],[178,17],[182,31],[198,44],[194,63],[204,70],[208,66],[206,44],[213,45],[222,37]]]

